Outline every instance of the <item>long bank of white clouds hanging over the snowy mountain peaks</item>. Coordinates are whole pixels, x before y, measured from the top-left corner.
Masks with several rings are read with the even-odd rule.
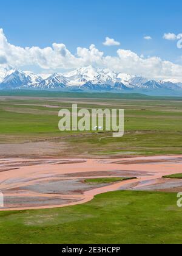
[[[0,68],[6,63],[19,69],[39,69],[39,73],[52,73],[62,69],[93,65],[112,71],[137,74],[153,79],[178,79],[182,81],[182,66],[159,57],[140,56],[126,49],[118,49],[116,56],[104,55],[94,44],[78,47],[72,54],[65,44],[53,43],[51,47],[22,48],[8,43],[0,29]],[[47,71],[45,72],[45,69]]]

